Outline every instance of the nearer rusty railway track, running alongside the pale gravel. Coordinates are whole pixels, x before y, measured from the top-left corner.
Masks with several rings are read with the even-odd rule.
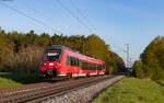
[[[57,83],[56,85],[50,85],[47,88],[40,88],[32,91],[22,91],[19,93],[11,94],[11,96],[2,96],[0,99],[0,102],[14,102],[14,103],[20,103],[20,102],[28,102],[28,101],[34,101],[37,99],[42,99],[45,96],[49,96],[52,94],[58,94],[62,92],[67,92],[69,90],[86,87],[87,84],[90,85],[91,83],[94,82],[99,82],[102,80],[108,79],[108,76],[102,76],[102,77],[92,77],[92,78],[85,78],[85,79],[79,79],[74,80],[71,82],[62,82],[62,83]]]

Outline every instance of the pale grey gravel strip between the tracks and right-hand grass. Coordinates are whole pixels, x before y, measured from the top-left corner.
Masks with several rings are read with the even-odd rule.
[[[75,91],[68,92],[66,94],[55,96],[43,101],[43,103],[89,103],[91,102],[95,95],[102,92],[104,89],[114,84],[115,82],[121,80],[125,76],[117,76],[112,79],[97,82],[87,88],[82,88]]]

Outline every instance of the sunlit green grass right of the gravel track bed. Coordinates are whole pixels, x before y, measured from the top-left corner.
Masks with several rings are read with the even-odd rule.
[[[164,103],[164,82],[124,78],[92,103]]]

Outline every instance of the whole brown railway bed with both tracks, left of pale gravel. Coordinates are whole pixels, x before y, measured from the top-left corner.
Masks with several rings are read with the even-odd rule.
[[[42,102],[49,98],[61,95],[80,88],[90,87],[113,77],[116,76],[82,78],[58,83],[42,82],[23,87],[0,89],[0,103]]]

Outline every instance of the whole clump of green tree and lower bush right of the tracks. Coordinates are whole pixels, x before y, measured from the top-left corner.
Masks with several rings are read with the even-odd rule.
[[[164,80],[164,36],[155,37],[134,61],[132,75],[138,78]]]

